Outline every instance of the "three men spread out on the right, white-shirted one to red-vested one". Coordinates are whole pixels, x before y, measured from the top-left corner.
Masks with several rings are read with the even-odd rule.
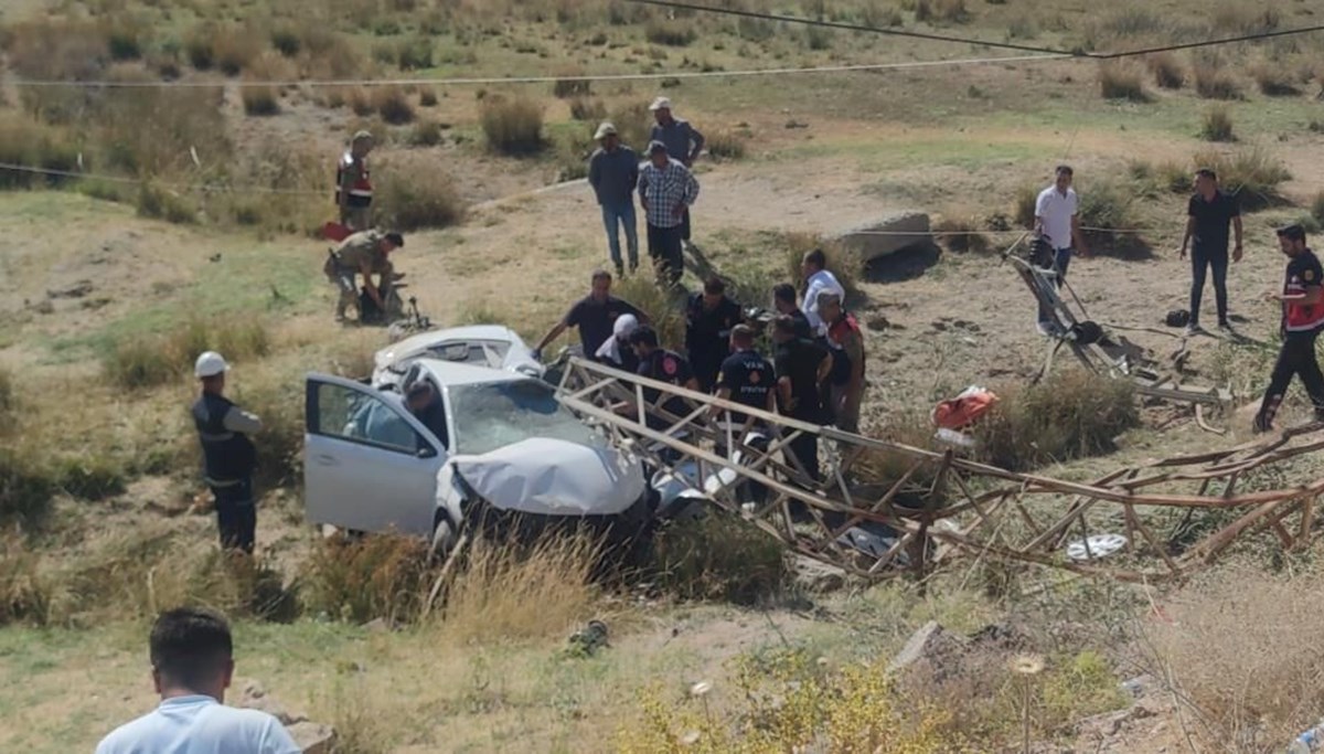
[[[1054,281],[1059,286],[1066,278],[1071,257],[1076,253],[1088,256],[1080,227],[1079,197],[1071,187],[1072,178],[1074,171],[1070,166],[1058,166],[1054,184],[1039,193],[1034,209],[1034,231],[1054,252]],[[1194,192],[1186,204],[1186,229],[1178,250],[1178,257],[1182,260],[1188,257],[1189,250],[1192,264],[1186,335],[1200,335],[1205,331],[1200,325],[1200,309],[1210,273],[1218,329],[1234,333],[1227,311],[1227,269],[1229,262],[1235,264],[1245,257],[1241,205],[1234,193],[1225,192],[1219,187],[1218,175],[1210,168],[1197,170],[1193,183]],[[1324,290],[1320,288],[1324,269],[1315,252],[1309,249],[1305,228],[1300,224],[1278,228],[1276,236],[1279,249],[1288,260],[1287,269],[1282,290],[1266,293],[1264,299],[1282,307],[1279,334],[1283,343],[1268,388],[1255,413],[1253,423],[1255,432],[1268,432],[1274,428],[1274,419],[1287,387],[1298,375],[1315,408],[1315,420],[1324,421],[1324,371],[1320,370],[1315,351],[1315,343],[1324,331]],[[1062,335],[1042,302],[1037,326],[1043,335]]]

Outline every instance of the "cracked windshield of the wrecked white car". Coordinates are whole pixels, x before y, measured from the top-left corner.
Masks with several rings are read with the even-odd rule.
[[[565,409],[540,380],[466,384],[450,390],[457,452],[481,456],[498,448],[551,437],[598,445],[596,433]]]

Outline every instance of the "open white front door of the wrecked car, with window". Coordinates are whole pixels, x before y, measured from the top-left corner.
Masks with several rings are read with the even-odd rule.
[[[305,413],[303,500],[310,522],[432,534],[446,449],[400,396],[311,374]]]

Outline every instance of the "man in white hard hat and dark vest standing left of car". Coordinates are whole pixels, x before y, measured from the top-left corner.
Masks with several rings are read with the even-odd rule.
[[[253,498],[257,452],[248,436],[262,429],[262,421],[222,395],[229,368],[216,351],[197,356],[193,374],[203,383],[203,395],[193,404],[193,424],[203,441],[204,478],[216,500],[221,547],[252,554],[257,529]]]

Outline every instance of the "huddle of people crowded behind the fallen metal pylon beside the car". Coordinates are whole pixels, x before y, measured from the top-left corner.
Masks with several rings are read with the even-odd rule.
[[[612,296],[612,273],[604,269],[593,273],[589,294],[571,306],[534,355],[540,358],[543,349],[576,327],[585,356],[600,363],[749,408],[858,432],[866,387],[863,331],[847,311],[846,292],[828,269],[822,250],[806,253],[801,272],[805,284],[798,297],[790,284],[771,292],[776,310],[771,359],[760,352],[757,327],[727,294],[722,278],[710,277],[702,290],[688,296],[685,342],[673,350],[659,341],[647,314]],[[653,388],[645,390],[643,398],[657,404],[662,396]],[[622,408],[634,412],[634,407]],[[673,416],[687,413],[677,398],[662,399],[661,408]],[[743,424],[745,416],[733,412],[731,420]],[[650,416],[649,424],[654,429],[667,425],[657,416]],[[801,435],[789,452],[817,478],[814,435]]]

